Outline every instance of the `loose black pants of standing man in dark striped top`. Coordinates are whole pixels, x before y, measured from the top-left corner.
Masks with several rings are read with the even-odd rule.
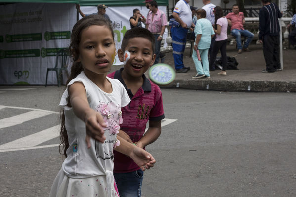
[[[280,35],[263,36],[263,54],[266,63],[266,71],[273,72],[281,68],[280,63]]]

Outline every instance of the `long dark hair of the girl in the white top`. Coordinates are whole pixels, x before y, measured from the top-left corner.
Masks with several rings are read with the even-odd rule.
[[[82,31],[92,25],[107,27],[111,31],[111,34],[114,40],[114,33],[113,33],[111,23],[107,21],[103,16],[100,16],[98,14],[89,15],[77,21],[77,23],[73,26],[72,33],[71,33],[71,42],[69,46],[69,52],[70,52],[71,59],[73,61],[73,65],[71,67],[70,76],[66,82],[66,87],[72,79],[76,78],[77,75],[79,75],[84,70],[81,62],[77,62],[77,60],[79,59],[79,43],[81,40]],[[68,105],[70,106],[69,97],[68,97]],[[61,112],[60,140],[61,140],[61,143],[59,146],[60,154],[64,155],[64,157],[67,157],[66,152],[67,152],[67,149],[69,148],[69,141],[68,141],[68,134],[65,126],[65,114],[63,110]]]

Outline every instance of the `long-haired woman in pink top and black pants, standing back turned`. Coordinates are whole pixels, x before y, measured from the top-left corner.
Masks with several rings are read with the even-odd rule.
[[[221,7],[216,6],[214,8],[215,13],[215,27],[214,31],[216,33],[216,39],[210,59],[209,66],[210,68],[214,67],[214,62],[216,60],[217,54],[219,50],[221,51],[222,56],[222,71],[218,73],[218,75],[226,75],[226,67],[227,67],[227,56],[226,56],[226,45],[227,45],[227,26],[228,21],[223,16],[223,10]]]

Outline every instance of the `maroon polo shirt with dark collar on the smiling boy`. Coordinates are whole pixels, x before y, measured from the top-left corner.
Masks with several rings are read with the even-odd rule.
[[[143,74],[143,85],[135,95],[127,88],[121,77],[124,68],[110,73],[108,77],[118,79],[126,88],[130,103],[122,108],[123,123],[120,129],[125,131],[133,142],[139,141],[146,129],[148,120],[160,121],[165,118],[163,96],[160,88]],[[125,173],[140,169],[133,160],[114,151],[114,172]]]

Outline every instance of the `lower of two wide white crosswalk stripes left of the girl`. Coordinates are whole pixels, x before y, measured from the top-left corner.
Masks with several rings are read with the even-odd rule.
[[[34,147],[38,144],[51,140],[59,136],[60,125],[53,126],[38,133],[19,138],[12,142],[0,145],[0,152],[13,151],[19,148]]]

